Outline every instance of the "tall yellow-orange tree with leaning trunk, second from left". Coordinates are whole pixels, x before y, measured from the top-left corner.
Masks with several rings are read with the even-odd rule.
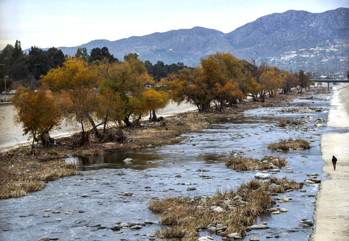
[[[91,145],[89,131],[85,131],[87,125],[91,125],[96,135],[101,137],[93,120],[98,104],[93,88],[99,78],[101,76],[96,66],[88,65],[81,58],[68,58],[62,67],[51,69],[46,76],[42,76],[43,87],[60,96],[65,117],[81,124],[82,135],[76,144]]]

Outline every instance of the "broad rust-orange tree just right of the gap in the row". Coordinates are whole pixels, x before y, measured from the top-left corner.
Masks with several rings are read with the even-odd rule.
[[[231,55],[232,56],[232,55]],[[207,112],[211,101],[217,110],[234,99],[243,98],[233,73],[222,59],[231,59],[230,54],[217,53],[207,59],[201,59],[201,66],[195,69],[184,68],[178,75],[168,75],[171,98],[177,103],[187,101],[195,104],[200,112]]]

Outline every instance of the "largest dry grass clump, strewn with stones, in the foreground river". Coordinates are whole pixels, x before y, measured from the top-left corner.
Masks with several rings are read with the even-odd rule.
[[[267,213],[275,204],[270,196],[275,192],[276,186],[270,186],[272,183],[289,183],[289,186],[296,188],[293,181],[287,179],[273,178],[272,181],[262,182],[251,180],[241,184],[236,190],[223,191],[217,193],[210,199],[195,199],[191,201],[189,197],[164,197],[164,199],[150,199],[149,209],[160,215],[162,219],[160,224],[170,227],[156,232],[157,236],[164,235],[165,238],[183,238],[187,235],[186,241],[196,241],[198,239],[198,229],[206,229],[208,225],[221,224],[227,226],[227,229],[220,235],[228,236],[231,233],[239,233],[240,236],[246,235],[246,227],[251,226],[257,221],[260,214]],[[298,187],[298,186],[297,186]],[[299,188],[299,187],[298,187]],[[278,192],[283,192],[279,190]],[[239,200],[233,200],[235,196],[241,196],[242,203]],[[225,204],[225,200],[230,200],[230,204]],[[211,203],[220,206],[223,212],[214,212]]]

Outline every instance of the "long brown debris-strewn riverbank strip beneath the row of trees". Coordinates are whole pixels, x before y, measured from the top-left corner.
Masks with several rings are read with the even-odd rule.
[[[313,89],[312,91],[323,91],[321,89]],[[292,98],[304,96],[306,93],[290,93],[288,95],[279,95],[274,98],[266,99],[265,102],[253,102],[242,101],[233,107],[226,107],[222,112],[218,113],[215,108],[206,114],[201,114],[195,111],[187,113],[179,113],[174,116],[168,116],[164,118],[163,122],[151,122],[142,121],[139,126],[132,126],[123,128],[124,133],[127,135],[125,143],[119,142],[99,142],[97,138],[91,136],[91,147],[72,145],[73,138],[62,137],[57,139],[57,146],[52,148],[45,148],[44,146],[36,146],[36,155],[30,155],[27,146],[21,145],[19,148],[2,152],[0,157],[0,198],[18,197],[27,195],[28,191],[41,190],[45,186],[38,185],[10,194],[10,187],[18,186],[22,183],[23,179],[27,179],[23,176],[30,176],[40,171],[45,172],[51,170],[51,165],[43,165],[43,162],[50,160],[59,160],[68,157],[75,156],[96,156],[102,155],[106,152],[113,150],[134,150],[140,148],[154,148],[157,146],[171,145],[180,142],[184,137],[179,137],[181,134],[195,132],[206,128],[210,123],[217,118],[234,118],[241,116],[240,112],[245,110],[259,108],[259,107],[271,107],[288,106],[292,104]],[[69,173],[75,173],[74,171]],[[76,172],[77,173],[77,172]],[[33,176],[33,175],[31,175]],[[64,173],[54,176],[63,177]],[[57,178],[56,178],[57,179]],[[33,180],[30,180],[32,182]],[[46,181],[46,180],[36,180]],[[17,183],[17,184],[16,184]],[[39,188],[40,186],[40,188]],[[10,194],[10,195],[9,195]]]

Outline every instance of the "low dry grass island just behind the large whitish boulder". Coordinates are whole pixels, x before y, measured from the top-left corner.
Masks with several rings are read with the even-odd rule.
[[[272,168],[269,163],[272,163],[274,166],[285,166],[287,160],[278,156],[265,156],[261,160],[252,157],[231,157],[225,161],[225,165],[229,166],[231,169],[239,169],[241,171]]]

